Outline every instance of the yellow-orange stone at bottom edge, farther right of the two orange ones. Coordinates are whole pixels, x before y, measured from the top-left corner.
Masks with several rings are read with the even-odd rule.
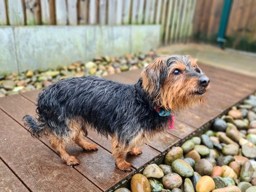
[[[215,183],[210,176],[203,176],[196,184],[196,192],[209,192],[215,189]]]

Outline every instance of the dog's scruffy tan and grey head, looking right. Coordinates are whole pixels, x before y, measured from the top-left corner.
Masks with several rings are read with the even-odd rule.
[[[196,59],[184,55],[158,57],[141,73],[142,87],[157,107],[179,110],[194,102],[204,102],[209,78],[196,64]]]

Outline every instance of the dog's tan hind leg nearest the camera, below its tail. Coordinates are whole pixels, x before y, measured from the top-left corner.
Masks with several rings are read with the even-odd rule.
[[[79,160],[76,159],[76,157],[68,155],[66,150],[66,144],[65,141],[63,141],[63,139],[59,139],[58,137],[52,135],[50,138],[50,144],[52,148],[56,149],[56,151],[62,158],[63,163],[66,163],[68,166],[80,164]]]

